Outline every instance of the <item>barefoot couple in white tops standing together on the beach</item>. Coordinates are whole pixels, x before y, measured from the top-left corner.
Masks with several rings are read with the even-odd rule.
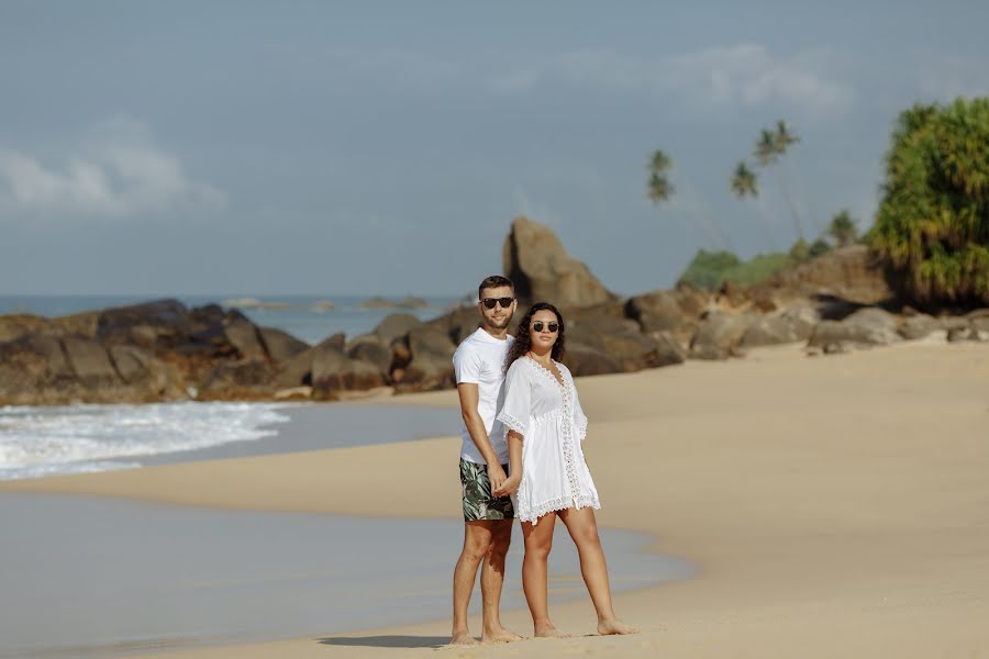
[[[485,643],[521,637],[499,616],[504,559],[519,517],[525,543],[522,588],[535,636],[566,636],[549,619],[547,559],[556,518],[577,546],[580,572],[598,613],[598,634],[634,634],[611,606],[608,567],[594,509],[598,491],[584,459],[587,416],[574,378],[559,362],[564,320],[552,304],[532,305],[508,334],[515,312],[514,287],[492,276],[478,287],[481,326],[454,354],[464,417],[460,483],[464,550],[454,571],[452,644],[475,644],[467,605],[481,569]]]

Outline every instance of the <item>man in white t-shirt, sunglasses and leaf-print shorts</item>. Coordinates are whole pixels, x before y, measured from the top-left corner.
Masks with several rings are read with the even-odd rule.
[[[494,415],[504,384],[504,358],[513,340],[508,335],[508,326],[515,312],[515,291],[511,280],[493,276],[481,281],[477,298],[481,326],[464,339],[453,357],[464,417],[460,446],[464,550],[454,570],[451,644],[455,645],[477,643],[467,629],[467,605],[481,562],[481,641],[507,643],[521,638],[501,626],[498,608],[515,513],[510,498],[492,494],[508,478],[508,445],[501,425],[497,424],[496,428]]]

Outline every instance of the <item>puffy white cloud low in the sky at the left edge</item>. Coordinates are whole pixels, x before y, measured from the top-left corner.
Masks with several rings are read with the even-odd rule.
[[[105,122],[74,153],[47,161],[0,145],[0,209],[10,217],[125,220],[225,205],[222,191],[190,179],[133,120]]]

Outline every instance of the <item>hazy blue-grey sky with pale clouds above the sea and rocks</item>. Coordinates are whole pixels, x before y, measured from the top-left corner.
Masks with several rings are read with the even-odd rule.
[[[3,0],[0,294],[460,295],[513,217],[611,290],[847,209],[989,93],[989,3]],[[800,137],[738,200],[758,133]],[[664,149],[676,188],[646,197]]]

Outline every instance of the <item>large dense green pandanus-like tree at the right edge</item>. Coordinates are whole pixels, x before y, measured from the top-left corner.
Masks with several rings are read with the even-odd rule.
[[[867,242],[918,303],[989,304],[989,98],[900,114]]]

